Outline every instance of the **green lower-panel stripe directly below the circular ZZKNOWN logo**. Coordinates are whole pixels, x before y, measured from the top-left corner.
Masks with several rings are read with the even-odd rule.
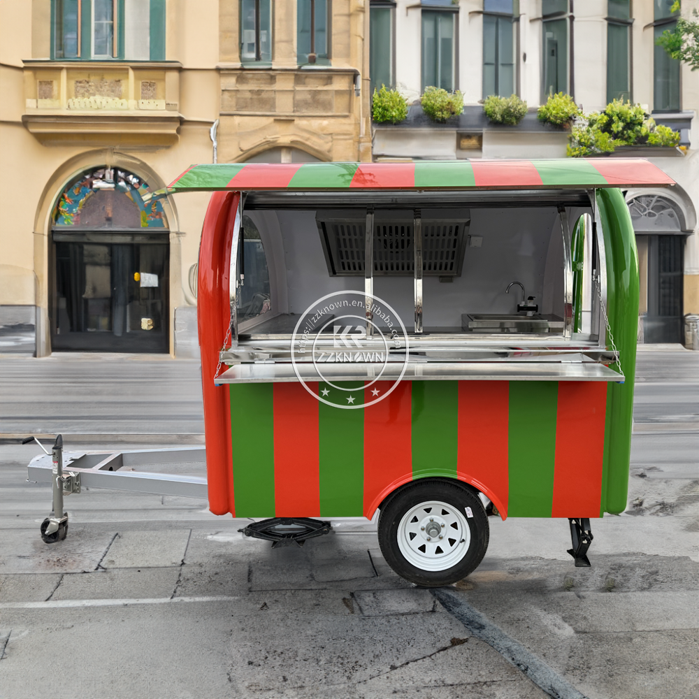
[[[338,382],[354,388],[356,382]],[[325,388],[319,385],[319,391]],[[347,405],[347,397],[363,401],[362,387],[356,392],[329,387],[326,400]],[[318,406],[320,516],[361,517],[364,499],[364,411]]]

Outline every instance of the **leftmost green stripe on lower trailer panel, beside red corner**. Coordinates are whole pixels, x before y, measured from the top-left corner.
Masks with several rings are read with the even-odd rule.
[[[274,517],[273,387],[230,384],[236,517]]]

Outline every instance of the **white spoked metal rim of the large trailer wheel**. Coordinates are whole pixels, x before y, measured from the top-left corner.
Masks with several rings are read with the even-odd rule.
[[[466,556],[471,531],[458,507],[428,500],[411,507],[398,524],[398,548],[420,570],[447,570]]]

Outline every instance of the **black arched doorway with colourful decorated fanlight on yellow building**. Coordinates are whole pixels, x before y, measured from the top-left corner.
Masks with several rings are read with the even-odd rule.
[[[92,168],[52,215],[52,349],[168,352],[169,229],[148,185],[119,168]]]

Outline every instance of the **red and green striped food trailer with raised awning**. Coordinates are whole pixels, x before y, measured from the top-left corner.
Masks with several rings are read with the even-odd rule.
[[[208,500],[303,543],[377,518],[416,584],[482,560],[489,517],[626,508],[638,316],[622,189],[640,159],[205,164]],[[57,505],[62,512],[62,505]]]

